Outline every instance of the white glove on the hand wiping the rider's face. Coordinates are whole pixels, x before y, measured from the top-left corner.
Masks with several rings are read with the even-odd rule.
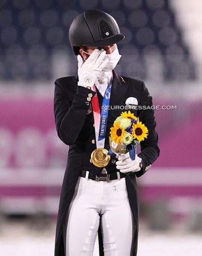
[[[106,51],[103,49],[95,49],[84,63],[81,63],[81,59],[78,57],[79,86],[90,86],[91,88],[94,86],[100,71],[107,65],[108,58],[103,60],[105,54]]]

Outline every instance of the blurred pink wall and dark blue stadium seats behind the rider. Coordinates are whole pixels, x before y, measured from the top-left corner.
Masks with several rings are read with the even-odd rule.
[[[145,81],[161,155],[138,179],[152,229],[202,229],[202,2],[200,0],[1,0],[0,212],[55,217],[68,146],[57,138],[54,81],[77,75],[68,31],[86,9],[110,13],[123,76]]]

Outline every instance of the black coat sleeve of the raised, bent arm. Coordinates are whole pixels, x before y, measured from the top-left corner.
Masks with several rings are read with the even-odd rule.
[[[73,80],[73,78],[72,78]],[[69,84],[68,84],[69,83]],[[54,92],[54,115],[58,137],[66,144],[72,145],[78,138],[85,123],[91,99],[96,94],[88,88],[77,86],[76,92],[68,90],[73,81],[57,79]],[[88,98],[88,100],[87,100]]]

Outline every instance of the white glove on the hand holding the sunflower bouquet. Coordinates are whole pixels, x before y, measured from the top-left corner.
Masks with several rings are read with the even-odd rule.
[[[126,154],[121,154],[118,160],[119,161],[116,162],[116,169],[119,169],[120,172],[138,172],[141,170],[139,164],[141,163],[142,159],[138,157],[137,154],[136,159],[134,160],[131,160],[129,152]]]

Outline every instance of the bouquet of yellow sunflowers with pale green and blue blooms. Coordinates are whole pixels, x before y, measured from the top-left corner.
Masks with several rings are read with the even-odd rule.
[[[129,151],[132,160],[136,157],[136,147],[140,141],[147,138],[147,127],[139,122],[139,118],[134,116],[130,110],[122,112],[114,121],[110,137],[110,155],[127,153]],[[121,149],[121,150],[120,150]]]

